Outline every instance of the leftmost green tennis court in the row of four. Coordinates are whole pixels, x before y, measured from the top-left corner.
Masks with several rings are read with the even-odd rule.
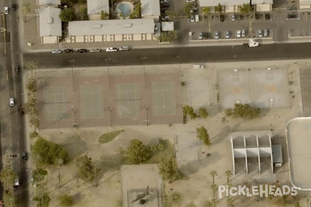
[[[45,119],[67,118],[67,97],[63,86],[44,88]]]

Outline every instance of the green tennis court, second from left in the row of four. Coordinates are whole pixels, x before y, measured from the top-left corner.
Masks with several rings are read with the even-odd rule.
[[[80,86],[82,119],[103,117],[103,97],[101,85]]]

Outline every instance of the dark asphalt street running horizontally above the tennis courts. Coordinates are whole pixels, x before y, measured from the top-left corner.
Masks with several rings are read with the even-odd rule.
[[[259,47],[243,48],[235,46],[210,47],[172,47],[132,49],[129,51],[100,53],[25,53],[24,62],[38,61],[39,68],[71,67],[69,60],[75,60],[74,67],[106,66],[105,58],[109,57],[109,65],[142,65],[142,56],[146,56],[145,64],[178,64],[181,63],[224,62],[224,61],[257,61],[307,59],[311,56],[311,43],[264,44]]]

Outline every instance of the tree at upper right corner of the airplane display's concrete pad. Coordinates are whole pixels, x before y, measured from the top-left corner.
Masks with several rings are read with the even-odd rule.
[[[177,178],[178,168],[175,156],[161,157],[159,162],[159,173],[163,179],[173,182]]]

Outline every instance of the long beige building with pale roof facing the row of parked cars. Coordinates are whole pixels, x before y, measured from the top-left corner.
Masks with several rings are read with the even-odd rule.
[[[66,43],[156,40],[153,19],[71,21]]]

